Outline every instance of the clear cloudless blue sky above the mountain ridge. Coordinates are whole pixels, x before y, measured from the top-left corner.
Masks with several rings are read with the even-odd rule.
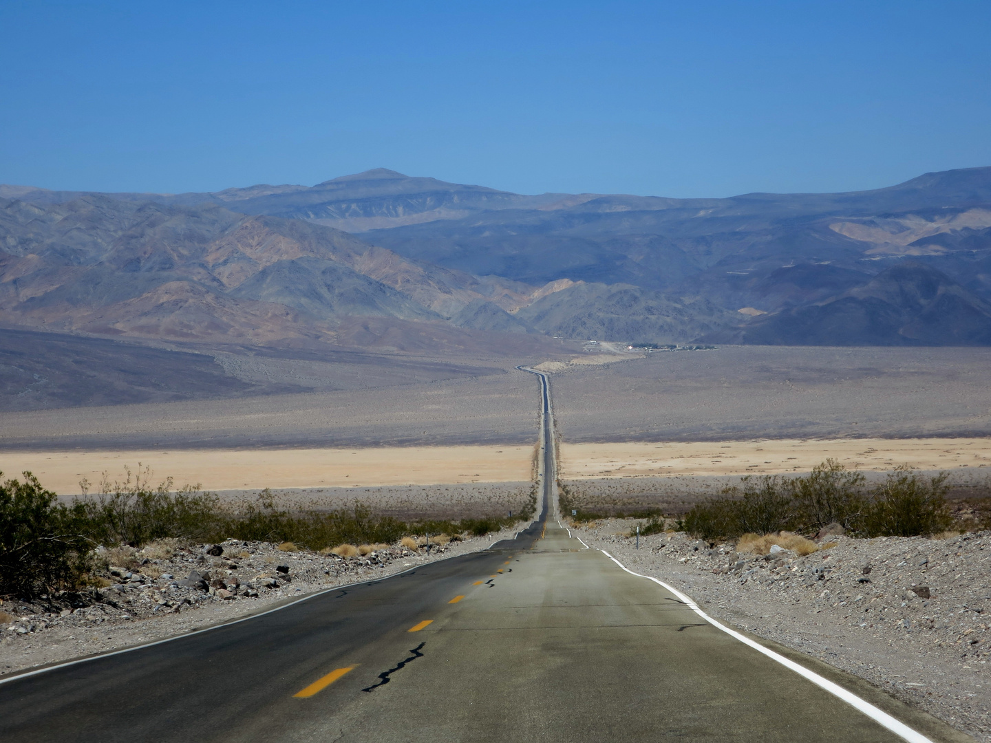
[[[728,196],[991,164],[991,3],[0,3],[0,182]]]

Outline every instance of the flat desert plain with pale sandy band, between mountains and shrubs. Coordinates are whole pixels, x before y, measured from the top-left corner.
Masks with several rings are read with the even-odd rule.
[[[991,464],[986,349],[727,346],[618,354],[615,364],[601,363],[601,350],[588,355],[596,363],[549,365],[565,481],[608,489],[636,479],[644,494],[671,495],[708,491],[714,478],[808,472],[826,458],[865,473],[908,465],[971,480]],[[368,359],[335,360],[307,392],[9,410],[0,470],[31,471],[62,495],[139,463],[155,481],[294,499],[518,484],[532,477],[539,390],[515,366],[540,362],[421,361],[417,373],[397,366],[373,377]],[[302,378],[278,364],[288,362],[253,357],[224,369],[283,386],[290,372]],[[334,389],[337,374],[351,381]]]

